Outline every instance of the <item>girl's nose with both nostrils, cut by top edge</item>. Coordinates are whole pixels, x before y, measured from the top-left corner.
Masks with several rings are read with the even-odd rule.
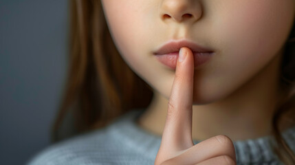
[[[198,0],[163,0],[160,17],[181,22],[186,19],[197,21],[201,17],[201,4]]]

